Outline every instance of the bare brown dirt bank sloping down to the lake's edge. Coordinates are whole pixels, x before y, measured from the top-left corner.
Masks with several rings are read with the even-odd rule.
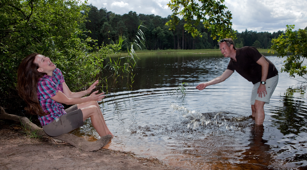
[[[0,170],[174,170],[155,158],[108,149],[86,152],[51,137],[29,138],[18,125],[0,122]]]

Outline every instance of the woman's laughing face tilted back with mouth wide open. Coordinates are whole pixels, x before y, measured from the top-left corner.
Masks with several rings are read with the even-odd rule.
[[[56,65],[51,62],[50,58],[45,57],[45,56],[40,55],[40,54],[35,56],[34,62],[38,64],[38,67],[39,67],[37,69],[38,72],[44,72],[44,73],[47,73],[47,75],[50,75],[50,76],[53,75],[52,71],[54,69],[56,69]]]

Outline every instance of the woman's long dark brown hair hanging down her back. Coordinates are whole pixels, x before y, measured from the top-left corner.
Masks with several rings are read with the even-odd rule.
[[[47,73],[38,72],[38,64],[34,63],[35,56],[38,53],[29,54],[20,63],[17,73],[17,90],[19,96],[25,100],[27,110],[30,114],[45,116],[41,105],[37,98],[37,82],[38,79]]]

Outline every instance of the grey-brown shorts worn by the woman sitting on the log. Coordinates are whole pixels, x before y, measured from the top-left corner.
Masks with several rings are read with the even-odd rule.
[[[77,105],[65,109],[67,114],[57,118],[48,125],[43,126],[44,132],[49,136],[59,136],[83,126],[83,113]]]

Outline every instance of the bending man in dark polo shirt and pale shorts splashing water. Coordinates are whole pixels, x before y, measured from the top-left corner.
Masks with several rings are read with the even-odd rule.
[[[230,57],[227,69],[223,74],[206,83],[200,83],[196,89],[203,90],[212,84],[221,83],[234,71],[254,84],[251,93],[252,117],[257,125],[264,121],[264,104],[270,102],[270,98],[278,82],[278,71],[274,64],[263,56],[254,47],[235,48],[231,38],[225,38],[219,42],[220,50],[224,57]]]

